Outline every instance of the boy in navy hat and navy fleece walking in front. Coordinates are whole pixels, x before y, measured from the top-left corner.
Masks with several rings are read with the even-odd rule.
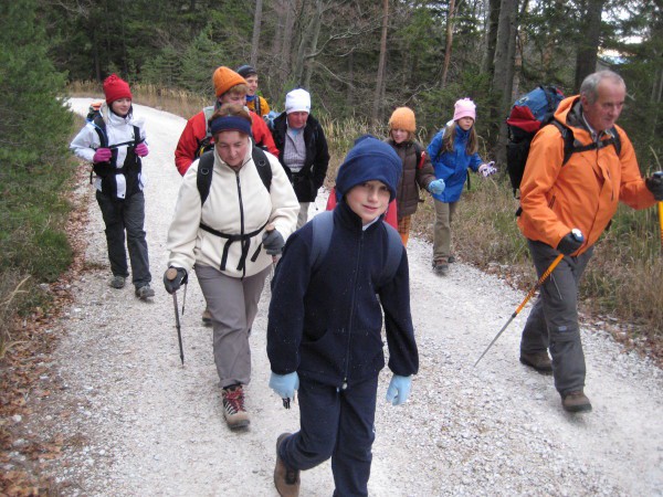
[[[387,400],[396,405],[409,395],[419,356],[404,247],[396,275],[380,282],[392,230],[382,218],[400,172],[401,160],[389,145],[359,138],[338,170],[340,201],[326,255],[314,269],[307,223],[287,240],[276,267],[267,326],[270,387],[284,399],[298,390],[301,414],[299,432],[283,433],[276,442],[274,484],[282,496],[298,495],[299,470],[329,457],[334,495],[368,495],[378,373],[385,367],[382,310],[393,373]]]

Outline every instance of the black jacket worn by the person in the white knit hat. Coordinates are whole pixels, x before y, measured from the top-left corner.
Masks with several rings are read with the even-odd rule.
[[[329,150],[327,149],[327,139],[319,123],[309,114],[304,127],[304,144],[306,144],[306,162],[298,172],[290,170],[283,161],[283,150],[285,148],[285,134],[287,133],[287,116],[282,113],[274,119],[272,136],[274,144],[278,149],[278,160],[285,168],[288,178],[297,194],[299,202],[313,202],[317,195],[318,189],[325,181],[327,167],[329,166]]]

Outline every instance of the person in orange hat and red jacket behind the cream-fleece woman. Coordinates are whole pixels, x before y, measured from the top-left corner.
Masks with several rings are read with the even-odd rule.
[[[175,165],[180,175],[185,176],[189,166],[200,155],[211,149],[212,137],[208,129],[208,119],[212,116],[215,108],[221,104],[242,104],[246,105],[246,92],[249,86],[246,80],[229,67],[221,66],[212,75],[217,102],[214,105],[203,108],[187,121],[180,139],[175,149]],[[274,139],[265,121],[254,112],[251,112],[253,141],[261,148],[278,157],[278,149],[274,145]]]

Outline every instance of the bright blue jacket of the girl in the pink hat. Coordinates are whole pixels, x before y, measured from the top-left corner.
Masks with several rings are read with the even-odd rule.
[[[467,179],[467,168],[476,172],[483,160],[478,154],[469,156],[465,152],[470,130],[464,131],[460,126],[456,126],[453,152],[445,151],[444,154],[440,154],[445,129],[442,128],[428,146],[428,152],[435,169],[435,177],[443,179],[446,184],[444,191],[433,195],[433,198],[442,202],[455,202],[461,198],[461,193],[463,192],[463,186]]]

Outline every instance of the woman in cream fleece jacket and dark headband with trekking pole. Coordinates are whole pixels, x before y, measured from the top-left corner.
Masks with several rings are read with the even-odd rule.
[[[223,105],[210,119],[214,149],[183,177],[168,232],[169,293],[193,267],[212,316],[214,362],[223,414],[231,429],[249,424],[242,385],[251,379],[249,335],[273,256],[294,231],[299,204],[278,160],[253,160],[251,118],[242,106]],[[271,168],[263,181],[259,167]],[[207,199],[199,178],[211,175]],[[264,176],[264,175],[263,175]],[[173,272],[171,272],[172,274]]]

